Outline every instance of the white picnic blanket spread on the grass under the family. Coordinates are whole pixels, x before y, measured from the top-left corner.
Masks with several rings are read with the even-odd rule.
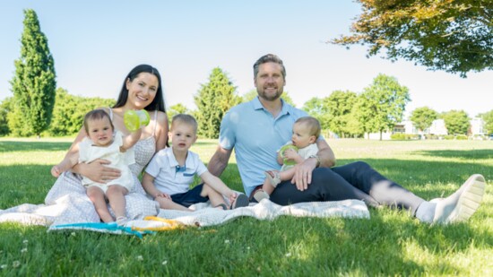
[[[63,202],[53,205],[30,204],[22,205],[0,211],[0,222],[19,222],[24,225],[51,226],[66,223],[97,222],[91,216],[87,218],[66,218],[73,210],[83,211],[88,204],[85,201],[63,199]],[[91,208],[91,207],[89,207]],[[194,206],[193,206],[194,208]],[[232,221],[238,217],[250,216],[258,220],[273,220],[281,215],[295,217],[339,217],[339,218],[365,218],[369,219],[367,205],[359,200],[344,200],[331,202],[295,203],[289,206],[281,206],[264,199],[261,203],[250,204],[248,207],[235,210],[222,211],[212,208],[208,203],[195,205],[195,212],[181,212],[160,209],[158,217],[175,220],[190,226],[212,226]],[[84,212],[77,212],[84,214]]]

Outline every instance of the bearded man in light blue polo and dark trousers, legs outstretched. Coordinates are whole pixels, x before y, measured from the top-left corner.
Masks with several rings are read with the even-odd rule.
[[[280,169],[276,151],[290,140],[293,123],[307,116],[281,100],[285,78],[286,69],[278,56],[260,57],[254,65],[258,97],[231,108],[221,122],[220,143],[208,169],[220,176],[235,149],[247,195],[262,186],[265,169]],[[385,204],[411,210],[420,221],[449,223],[469,219],[484,194],[484,177],[473,175],[454,195],[427,202],[365,162],[330,169],[335,165],[332,149],[323,137],[316,144],[317,155],[298,164],[294,177],[276,187],[270,198],[273,203],[359,199],[370,206]]]

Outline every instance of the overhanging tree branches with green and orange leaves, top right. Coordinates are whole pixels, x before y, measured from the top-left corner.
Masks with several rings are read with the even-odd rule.
[[[344,46],[382,49],[388,59],[403,58],[466,77],[493,68],[493,2],[471,0],[358,0],[362,13],[349,36],[331,39]]]

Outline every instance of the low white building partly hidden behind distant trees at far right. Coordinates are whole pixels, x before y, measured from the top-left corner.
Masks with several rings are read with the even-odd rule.
[[[484,130],[484,121],[475,117],[471,119],[471,126],[469,127],[468,135],[470,136],[478,136],[485,135],[486,132]],[[428,129],[424,130],[422,133],[419,133],[419,130],[414,127],[410,120],[402,121],[402,123],[396,124],[394,126],[394,130],[392,132],[384,132],[382,133],[382,140],[390,140],[392,134],[435,134],[438,136],[443,136],[448,134],[444,119],[437,119],[431,123]],[[379,133],[371,133],[369,134],[370,140],[379,140]]]

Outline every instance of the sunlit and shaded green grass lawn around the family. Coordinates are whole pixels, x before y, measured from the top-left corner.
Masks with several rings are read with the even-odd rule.
[[[449,195],[472,173],[493,181],[493,142],[329,141],[338,165],[366,160],[430,199]],[[209,160],[216,141],[194,151]],[[0,139],[0,209],[43,203],[68,140]],[[231,160],[223,180],[241,189]],[[47,233],[0,224],[0,275],[493,275],[491,186],[470,221],[430,226],[405,211],[370,210],[370,220],[240,218],[143,239],[92,232]]]

